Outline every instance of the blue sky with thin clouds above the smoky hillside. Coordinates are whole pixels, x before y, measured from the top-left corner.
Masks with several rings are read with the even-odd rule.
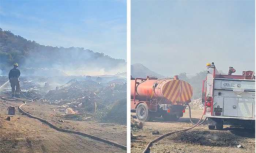
[[[126,0],[0,1],[0,27],[39,44],[126,60]]]

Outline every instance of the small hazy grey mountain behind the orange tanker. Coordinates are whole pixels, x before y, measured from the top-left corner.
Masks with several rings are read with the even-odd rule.
[[[156,76],[157,78],[165,78],[165,76],[151,71],[146,66],[136,63],[131,65],[131,75],[133,78],[146,78],[147,76]]]

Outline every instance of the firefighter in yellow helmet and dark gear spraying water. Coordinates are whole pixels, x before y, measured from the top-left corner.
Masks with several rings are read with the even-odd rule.
[[[13,69],[10,70],[9,81],[10,81],[11,87],[12,87],[12,97],[20,98],[20,96],[19,96],[19,93],[20,93],[20,85],[19,85],[20,71],[17,68],[18,66],[19,66],[18,63],[15,63],[13,66]],[[15,91],[15,86],[16,86],[16,91]]]

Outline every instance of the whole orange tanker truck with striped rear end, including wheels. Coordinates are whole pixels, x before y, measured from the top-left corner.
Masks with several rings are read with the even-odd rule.
[[[192,86],[177,75],[164,79],[131,77],[131,112],[136,112],[140,121],[161,116],[166,121],[177,121],[192,95]]]

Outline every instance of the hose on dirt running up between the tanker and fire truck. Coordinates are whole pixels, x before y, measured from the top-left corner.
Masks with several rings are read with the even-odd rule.
[[[187,103],[184,103],[184,104],[185,104],[185,105],[188,105]],[[154,140],[150,141],[150,142],[147,144],[147,146],[146,146],[146,148],[144,149],[143,153],[146,153],[147,150],[149,149],[149,147],[150,147],[154,142],[156,142],[156,141],[158,141],[158,140],[161,140],[161,139],[164,138],[164,137],[170,136],[171,134],[178,133],[178,132],[185,132],[185,131],[187,131],[187,130],[193,129],[193,128],[196,127],[197,125],[202,125],[202,124],[204,123],[204,121],[206,121],[207,117],[206,117],[201,123],[199,123],[199,122],[202,120],[203,116],[204,116],[204,112],[203,112],[202,117],[199,119],[199,121],[198,121],[196,124],[193,123],[192,120],[191,120],[191,109],[190,109],[190,106],[189,106],[189,105],[188,105],[188,110],[189,110],[189,120],[190,120],[190,122],[191,122],[194,126],[189,127],[188,129],[183,129],[183,130],[178,130],[178,131],[173,131],[173,132],[170,132],[170,133],[166,133],[166,134],[163,134],[163,135],[160,136],[160,137],[155,138]]]

